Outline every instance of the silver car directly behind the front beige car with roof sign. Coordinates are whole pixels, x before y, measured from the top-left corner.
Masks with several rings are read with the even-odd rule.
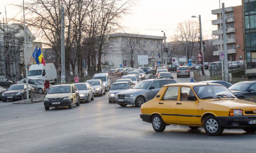
[[[93,88],[89,83],[74,83],[79,92],[80,102],[89,103],[90,99],[94,100]]]

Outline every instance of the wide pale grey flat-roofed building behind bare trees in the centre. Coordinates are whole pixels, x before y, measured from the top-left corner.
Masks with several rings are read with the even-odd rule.
[[[107,37],[109,44],[103,49],[102,68],[131,67],[132,63],[134,67],[144,66],[138,65],[137,55],[147,55],[151,66],[161,61],[164,37],[129,33],[114,33]]]

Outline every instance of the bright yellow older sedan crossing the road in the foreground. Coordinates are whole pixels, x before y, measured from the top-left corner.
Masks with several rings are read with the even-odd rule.
[[[140,118],[152,123],[156,132],[170,124],[204,127],[211,136],[220,135],[224,129],[256,131],[256,103],[240,100],[215,83],[165,85],[140,109]]]

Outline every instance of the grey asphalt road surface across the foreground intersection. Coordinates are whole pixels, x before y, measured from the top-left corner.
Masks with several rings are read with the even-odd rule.
[[[192,77],[193,75],[191,75]],[[174,74],[176,78],[176,74]],[[190,82],[190,78],[178,78]],[[107,95],[73,109],[0,102],[0,153],[255,153],[256,133],[169,125],[156,133],[140,108],[109,104]]]

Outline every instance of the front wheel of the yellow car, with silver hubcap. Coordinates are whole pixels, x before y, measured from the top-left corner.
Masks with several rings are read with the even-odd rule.
[[[223,127],[219,126],[219,122],[215,116],[210,115],[205,118],[204,129],[209,136],[218,136],[223,133]]]

